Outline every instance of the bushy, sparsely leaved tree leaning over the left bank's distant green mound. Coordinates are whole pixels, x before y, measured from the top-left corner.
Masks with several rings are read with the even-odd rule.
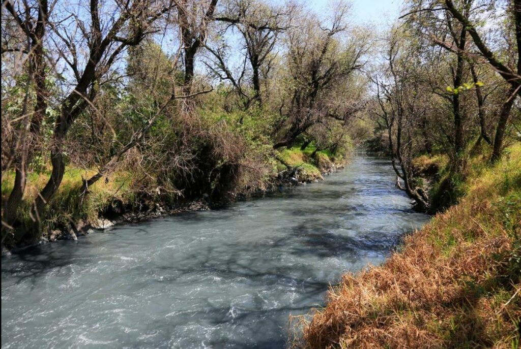
[[[354,75],[364,65],[364,54],[369,48],[369,37],[349,36],[345,17],[349,6],[339,4],[329,26],[316,17],[302,16],[301,25],[289,30],[287,36],[288,94],[282,108],[274,148],[291,146],[297,137],[312,126],[325,125],[332,120],[346,122],[361,110],[363,101],[335,98],[354,87]],[[345,36],[343,36],[345,35]],[[349,86],[351,85],[351,86]],[[351,92],[353,90],[350,90]]]

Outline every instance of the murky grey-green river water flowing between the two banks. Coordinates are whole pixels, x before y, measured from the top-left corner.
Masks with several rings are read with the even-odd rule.
[[[2,259],[2,347],[279,348],[288,318],[426,222],[389,163]]]

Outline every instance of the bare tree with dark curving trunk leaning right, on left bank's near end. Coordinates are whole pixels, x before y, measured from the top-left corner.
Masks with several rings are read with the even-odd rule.
[[[67,75],[70,79],[69,84],[64,84],[64,97],[56,107],[57,116],[54,120],[54,127],[50,141],[50,159],[52,172],[49,179],[33,201],[31,212],[38,230],[38,225],[44,214],[44,208],[49,200],[58,190],[65,172],[65,141],[68,131],[75,121],[86,109],[93,106],[93,101],[107,79],[111,67],[115,64],[118,57],[129,46],[138,45],[143,38],[154,31],[153,24],[160,19],[166,12],[173,8],[173,3],[169,1],[142,0],[117,4],[113,11],[104,11],[108,3],[100,3],[92,0],[89,4],[88,15],[69,7],[55,9],[53,14],[48,14],[46,2],[36,2],[33,6],[24,6],[15,9],[10,2],[3,5],[9,11],[20,28],[26,28],[26,34],[32,34],[27,28],[37,28],[38,23],[33,26],[29,22],[20,22],[21,18],[31,18],[32,8],[37,8],[39,22],[46,29],[52,30],[48,40],[41,37],[46,33],[45,29],[40,29],[41,37],[36,36],[37,46],[41,46],[43,51],[48,51],[49,67],[57,67],[64,64],[69,70]],[[66,5],[65,5],[66,6]],[[114,16],[103,16],[103,13],[110,13]],[[77,30],[66,31],[71,25],[76,25]],[[39,28],[39,27],[38,27]],[[47,30],[48,31],[48,30]],[[46,44],[47,47],[43,47]],[[54,44],[54,46],[52,45]],[[83,52],[86,54],[83,55]],[[38,67],[37,67],[38,68]],[[61,75],[63,76],[63,74]],[[39,77],[44,79],[44,77]],[[37,85],[38,86],[38,85]],[[38,91],[38,87],[36,87]],[[43,97],[42,97],[43,99]],[[41,110],[42,104],[36,102],[36,108]],[[22,152],[15,158],[23,157],[23,149],[15,149],[15,153]],[[23,196],[24,187],[15,185],[13,192],[17,196],[13,203],[20,203]],[[17,211],[16,206],[11,206],[3,212],[3,221],[12,222],[14,217],[11,213]],[[7,233],[3,229],[3,238]],[[24,232],[22,232],[22,235]]]

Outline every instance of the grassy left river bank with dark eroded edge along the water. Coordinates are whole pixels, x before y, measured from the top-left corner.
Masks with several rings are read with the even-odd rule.
[[[14,241],[2,246],[2,255],[16,252],[35,244],[58,240],[78,240],[94,231],[103,231],[120,224],[138,223],[147,219],[180,214],[190,211],[219,209],[235,201],[258,198],[269,193],[324,180],[324,176],[342,169],[351,157],[351,148],[345,154],[300,149],[295,146],[276,152],[273,158],[273,171],[261,182],[253,186],[232,189],[225,198],[218,201],[213,196],[202,193],[200,197],[184,198],[179,192],[173,196],[157,186],[151,195],[150,190],[140,192],[132,187],[134,176],[128,172],[115,172],[105,181],[100,181],[90,188],[84,198],[79,188],[82,178],[89,176],[89,171],[69,169],[65,178],[64,189],[54,200],[58,204],[52,208],[54,216],[45,222],[42,232],[36,240]],[[2,191],[10,190],[9,180],[3,178]],[[34,187],[38,187],[39,178],[32,178]],[[12,187],[12,184],[11,184]],[[31,189],[29,189],[31,191]],[[25,217],[26,221],[29,217]],[[30,223],[22,223],[29,225]],[[16,237],[16,233],[15,233]]]

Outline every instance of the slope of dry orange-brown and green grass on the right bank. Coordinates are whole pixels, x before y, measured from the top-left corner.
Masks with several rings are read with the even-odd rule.
[[[296,345],[519,347],[521,144],[489,168],[469,160],[466,195],[382,266],[345,274]]]

